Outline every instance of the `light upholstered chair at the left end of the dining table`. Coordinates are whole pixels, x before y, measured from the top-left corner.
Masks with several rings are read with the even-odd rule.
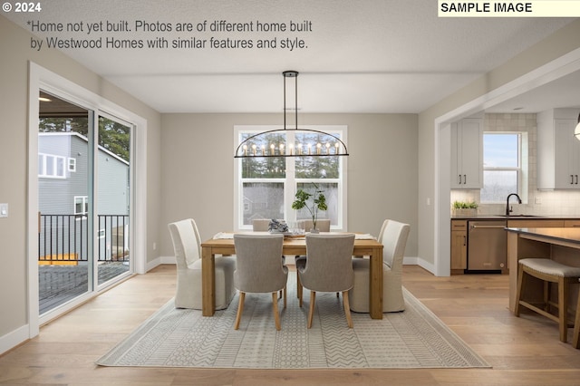
[[[191,219],[169,224],[169,234],[178,268],[176,308],[202,309],[201,239],[198,226]],[[234,287],[235,256],[216,256],[216,309],[227,308],[236,294]]]

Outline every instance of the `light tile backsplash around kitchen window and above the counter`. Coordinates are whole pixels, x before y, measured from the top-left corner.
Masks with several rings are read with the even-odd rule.
[[[536,114],[485,114],[485,131],[525,131],[528,141],[528,181],[527,201],[517,204],[510,199],[513,214],[536,216],[580,217],[580,190],[537,190],[536,188]],[[452,189],[450,202],[476,201],[479,203],[478,189]],[[502,215],[506,212],[506,202],[501,204],[479,204],[481,215]]]

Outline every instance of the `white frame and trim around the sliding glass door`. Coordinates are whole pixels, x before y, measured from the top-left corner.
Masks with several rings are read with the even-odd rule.
[[[39,117],[39,92],[43,90],[51,94],[71,101],[82,108],[92,111],[93,121],[98,119],[99,114],[108,114],[118,120],[131,122],[134,138],[132,139],[131,151],[131,255],[133,256],[132,271],[144,274],[147,266],[147,121],[128,111],[121,106],[106,100],[101,95],[90,92],[82,86],[71,82],[57,73],[44,69],[42,66],[29,62],[29,94],[28,94],[28,192],[26,207],[26,261],[28,264],[28,338],[33,338],[40,332],[40,326],[55,317],[68,312],[100,294],[102,288],[92,285],[92,291],[82,294],[66,306],[59,307],[55,313],[49,312],[39,315],[38,294],[38,117]],[[98,125],[96,126],[98,128]],[[94,135],[94,133],[93,133]],[[94,188],[94,187],[92,187]],[[94,222],[93,222],[94,224]],[[94,269],[94,267],[93,267]],[[94,277],[96,281],[96,276]],[[95,282],[96,283],[96,282]],[[58,312],[56,312],[58,311]]]

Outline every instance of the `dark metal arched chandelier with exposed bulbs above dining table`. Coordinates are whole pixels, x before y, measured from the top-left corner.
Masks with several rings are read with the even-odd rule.
[[[234,158],[261,157],[338,157],[348,156],[343,140],[329,132],[298,128],[298,72],[285,71],[284,76],[284,129],[266,130],[247,137],[237,145]],[[295,81],[295,125],[287,127],[286,81]],[[292,132],[290,143],[285,134]]]

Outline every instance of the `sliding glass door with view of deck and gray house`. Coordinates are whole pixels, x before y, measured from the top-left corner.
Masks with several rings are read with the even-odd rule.
[[[130,275],[132,126],[39,95],[39,314]]]

